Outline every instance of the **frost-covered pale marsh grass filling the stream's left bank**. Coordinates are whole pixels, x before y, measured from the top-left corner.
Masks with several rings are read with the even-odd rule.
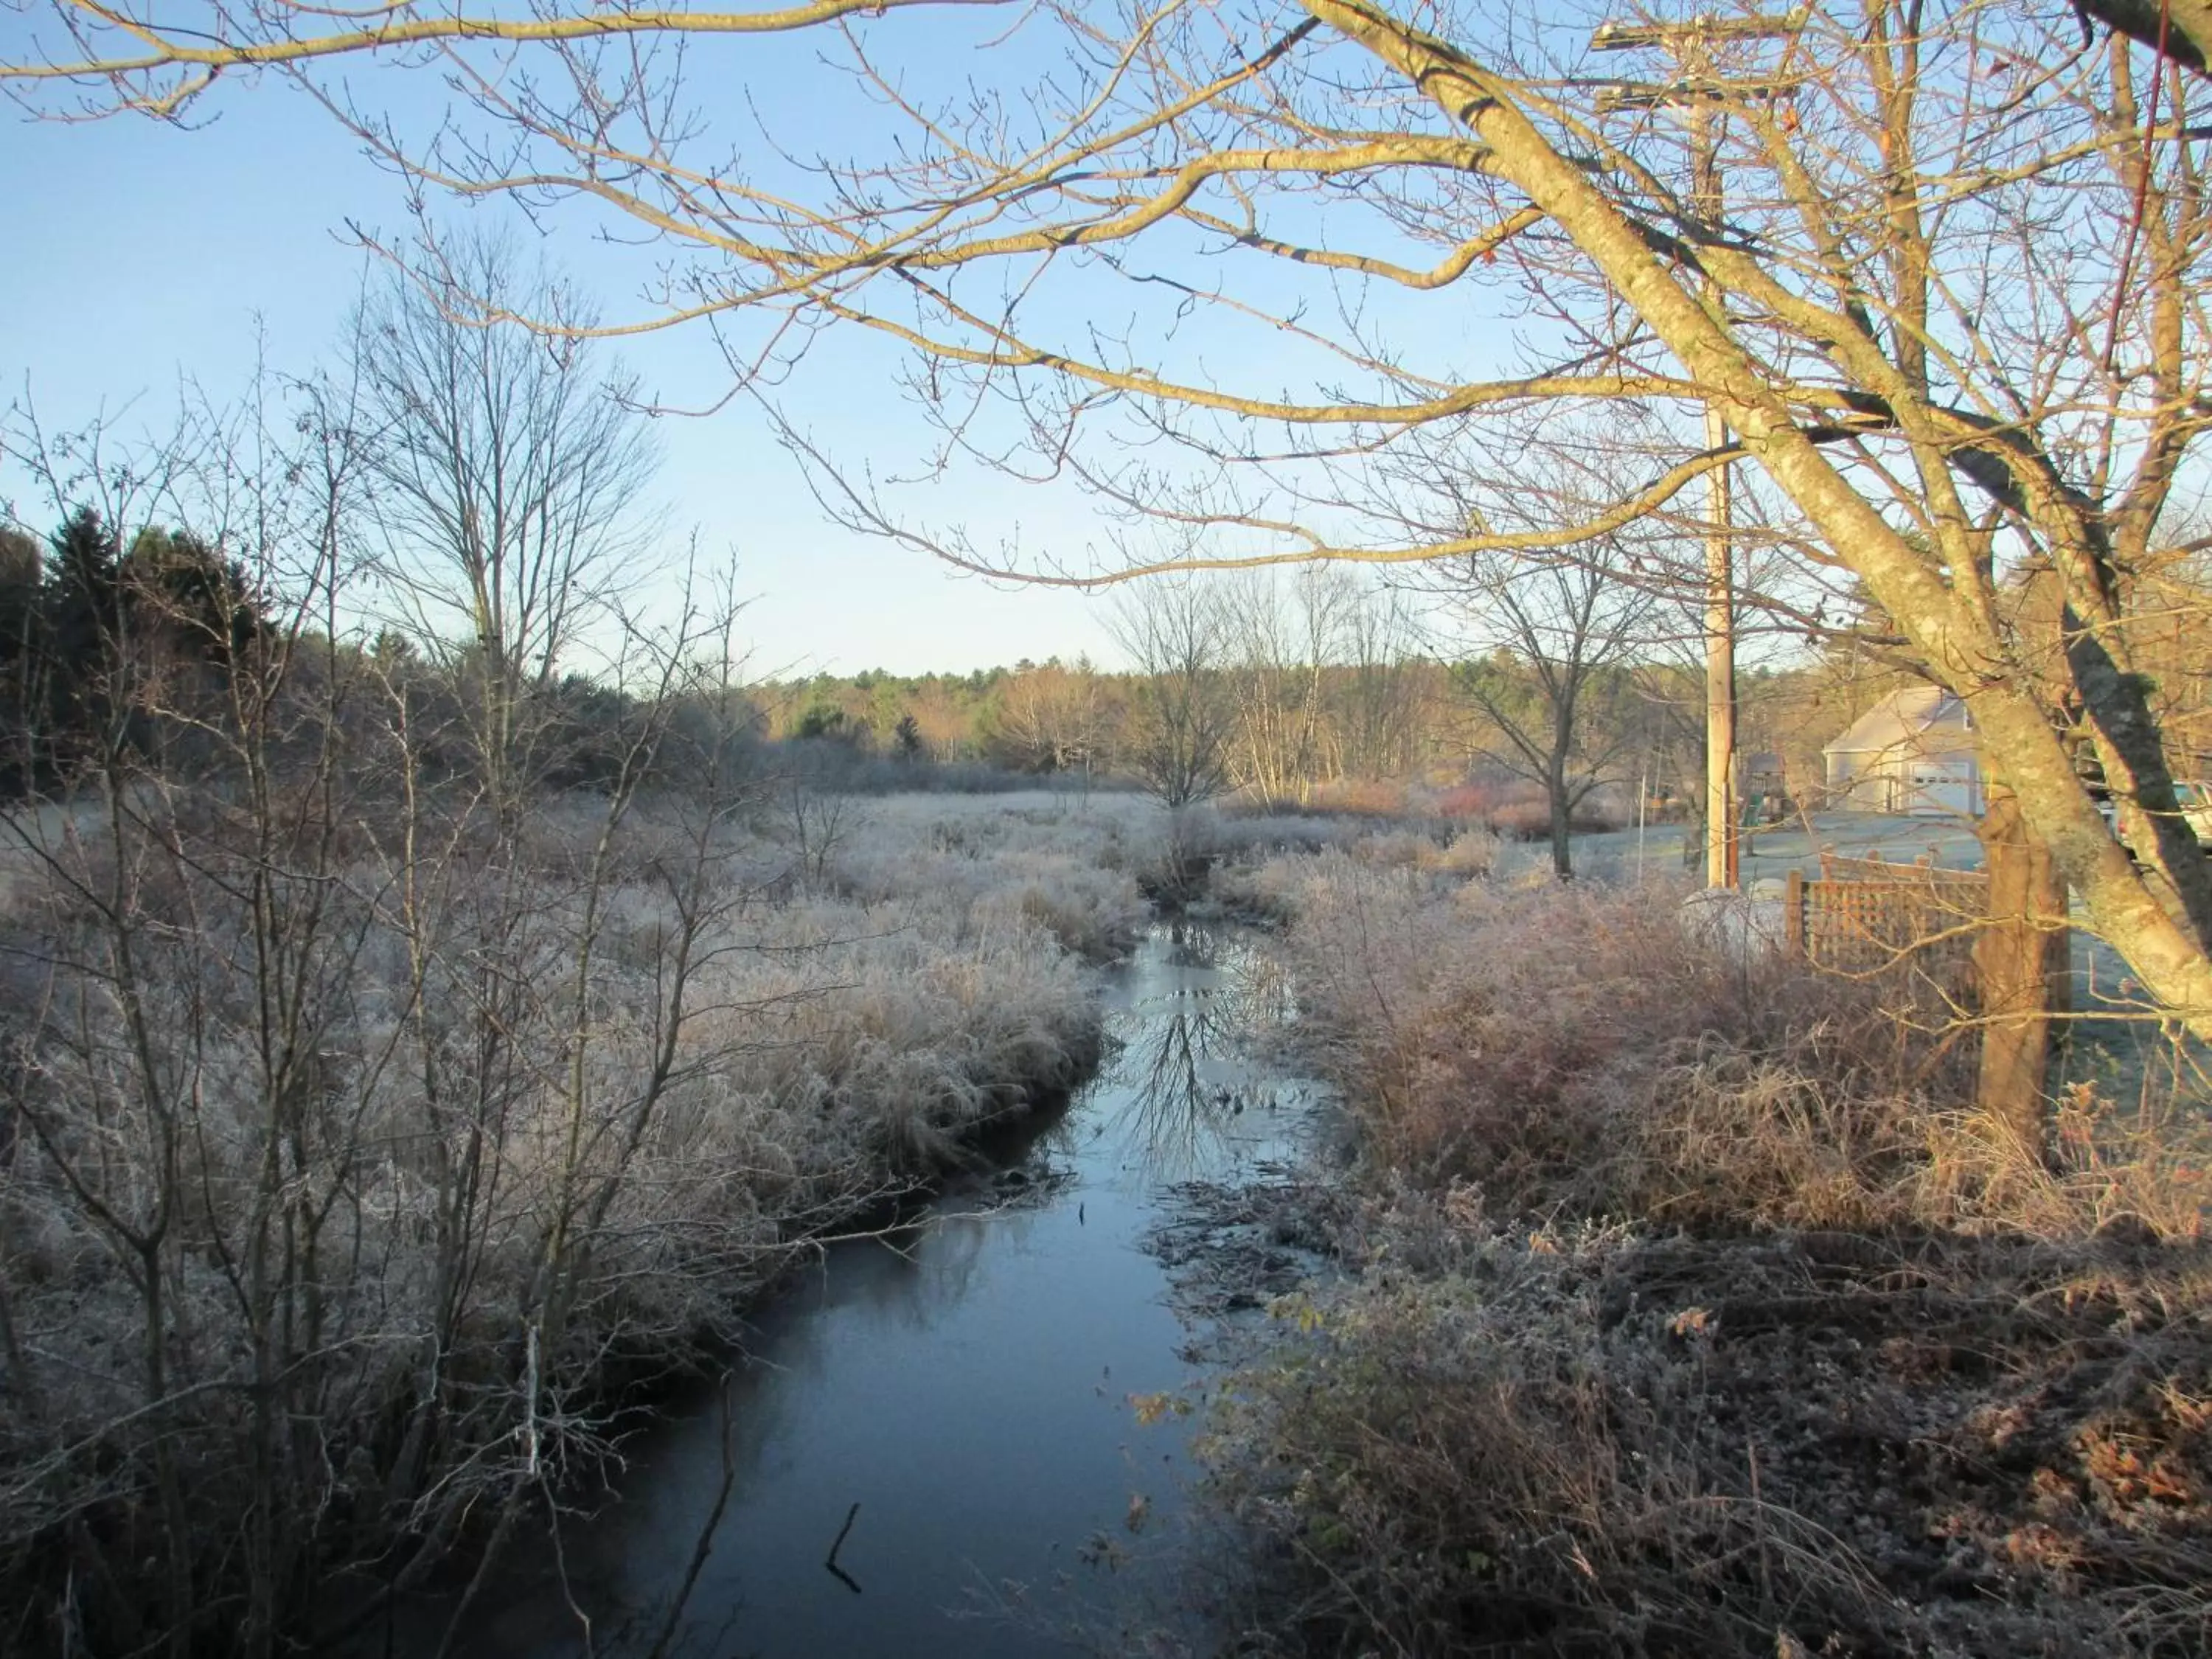
[[[639,801],[599,852],[606,803],[557,799],[312,867],[155,790],[18,836],[0,1646],[283,1624],[332,1562],[434,1559],[599,1455],[611,1383],[1095,1057],[1141,803],[706,823]],[[113,1593],[38,1613],[71,1573]]]

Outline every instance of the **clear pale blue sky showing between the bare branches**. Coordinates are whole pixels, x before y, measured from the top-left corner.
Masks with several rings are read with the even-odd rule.
[[[27,22],[20,11],[0,11],[0,40]],[[1035,69],[1022,64],[1026,35],[975,51],[978,40],[1006,22],[1009,13],[995,9],[951,22],[945,13],[925,20],[894,13],[880,29],[902,29],[898,62],[942,91],[969,75],[1009,82]],[[690,60],[692,93],[712,97],[714,139],[745,148],[770,181],[779,181],[779,164],[759,150],[754,108],[799,148],[814,135],[841,153],[867,146],[867,124],[876,117],[865,100],[856,102],[849,84],[814,62],[827,44],[821,35],[708,42]],[[1060,46],[1046,31],[1037,51]],[[431,71],[347,62],[336,73],[365,108],[398,111],[403,126],[418,133],[449,97]],[[0,385],[9,396],[29,385],[53,425],[82,422],[131,398],[157,422],[179,376],[215,396],[230,394],[246,378],[257,325],[265,330],[272,367],[312,367],[330,354],[367,268],[345,226],[405,239],[400,184],[299,91],[274,80],[223,82],[197,113],[199,131],[177,131],[144,119],[33,124],[0,106],[0,166],[13,181],[15,239],[15,254],[0,270]],[[544,223],[549,259],[595,292],[608,319],[650,312],[639,296],[666,252],[597,241],[586,210],[555,210]],[[1172,237],[1170,230],[1170,243]],[[1157,263],[1175,254],[1146,257]],[[1237,281],[1252,279],[1245,263]],[[1259,281],[1276,276],[1259,272]],[[1321,301],[1327,305],[1327,292]],[[1343,380],[1338,367],[1301,361],[1296,341],[1274,330],[1237,338],[1234,319],[1225,325],[1203,310],[1197,323],[1177,327],[1168,316],[1175,294],[1164,288],[1104,276],[1086,288],[1077,276],[1055,292],[1053,305],[1075,338],[1093,323],[1113,332],[1137,307],[1164,307],[1139,336],[1146,349],[1168,354],[1159,365],[1179,378],[1221,374],[1270,394]],[[1367,314],[1369,323],[1376,319]],[[1402,323],[1398,332],[1407,338],[1418,330],[1427,367],[1438,367],[1440,349],[1471,358],[1471,372],[1495,367],[1486,358],[1506,352],[1504,332],[1460,292],[1405,301],[1402,316],[1387,319]],[[697,325],[624,343],[624,363],[648,394],[679,407],[706,407],[730,387],[714,341]],[[878,476],[927,471],[931,434],[905,403],[896,365],[872,341],[832,336],[803,365],[783,407],[845,462]],[[1077,653],[1115,659],[1108,597],[960,577],[927,553],[827,522],[796,462],[750,405],[657,427],[670,526],[677,533],[697,526],[710,553],[734,553],[739,591],[757,595],[748,630],[761,670],[967,670]],[[22,498],[20,487],[13,493]],[[1102,553],[1110,526],[1068,487],[1022,487],[967,467],[945,482],[909,487],[900,504],[933,524],[960,524],[987,551],[1011,538],[1068,566],[1113,560]]]

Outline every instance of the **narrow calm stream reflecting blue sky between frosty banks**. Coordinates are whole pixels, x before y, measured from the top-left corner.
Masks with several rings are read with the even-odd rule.
[[[1066,1108],[889,1237],[830,1245],[726,1383],[626,1442],[557,1559],[515,1551],[456,1652],[646,1655],[664,1630],[714,1659],[1203,1646],[1175,1577],[1199,1425],[1139,1402],[1206,1365],[1146,1239],[1183,1183],[1294,1157],[1321,1091],[1252,1051],[1287,995],[1237,931],[1161,925],[1104,998],[1106,1062]]]

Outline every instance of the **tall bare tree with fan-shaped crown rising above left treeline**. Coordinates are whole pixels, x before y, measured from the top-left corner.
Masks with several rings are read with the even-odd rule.
[[[628,383],[575,334],[515,316],[588,327],[560,283],[476,237],[420,279],[394,274],[352,341],[380,573],[460,688],[480,781],[507,814],[553,761],[549,692],[639,580],[655,460]]]

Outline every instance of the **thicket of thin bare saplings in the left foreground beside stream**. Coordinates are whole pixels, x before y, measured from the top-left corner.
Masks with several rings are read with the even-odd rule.
[[[142,562],[88,670],[111,719],[0,814],[11,1652],[319,1646],[334,1566],[411,1582],[593,1453],[604,1345],[697,1318],[641,1270],[752,1239],[670,1270],[637,1179],[708,1057],[679,1037],[743,779],[672,717],[730,703],[726,606],[624,635],[591,810],[442,790],[436,688],[345,626],[356,392],[192,403],[144,451],[9,434]]]

